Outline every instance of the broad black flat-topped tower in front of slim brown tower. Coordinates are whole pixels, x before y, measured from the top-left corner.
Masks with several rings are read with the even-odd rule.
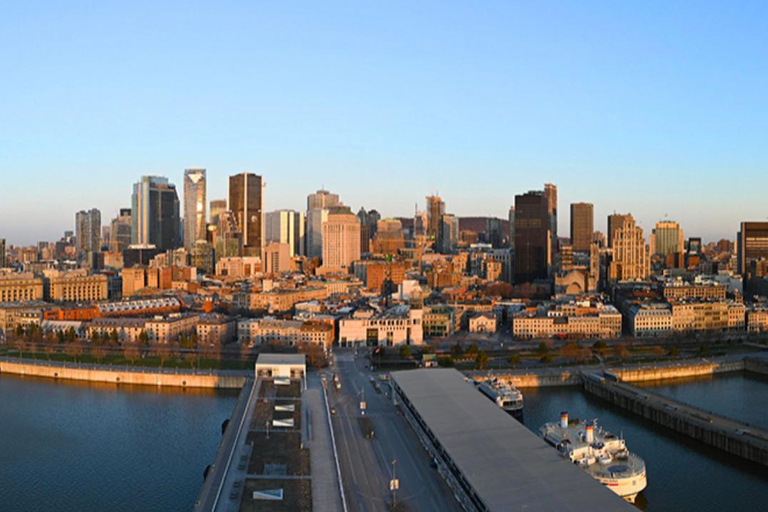
[[[515,196],[515,282],[544,279],[552,266],[548,197],[542,191]]]

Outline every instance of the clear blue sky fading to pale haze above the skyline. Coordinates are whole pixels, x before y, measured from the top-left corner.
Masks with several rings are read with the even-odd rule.
[[[356,211],[569,203],[735,238],[768,218],[768,3],[5,2],[0,238],[107,224],[141,175],[264,176]]]

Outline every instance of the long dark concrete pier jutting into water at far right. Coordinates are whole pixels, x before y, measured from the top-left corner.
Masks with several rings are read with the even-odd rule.
[[[732,455],[768,466],[768,431],[671,400],[599,374],[584,374],[584,390],[658,425]]]

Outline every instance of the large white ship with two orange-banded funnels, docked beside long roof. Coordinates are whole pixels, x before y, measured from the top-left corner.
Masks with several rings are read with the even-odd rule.
[[[586,471],[592,478],[634,503],[648,485],[643,459],[630,453],[624,439],[586,421],[568,420],[560,414],[560,423],[546,423],[539,435],[560,455]]]

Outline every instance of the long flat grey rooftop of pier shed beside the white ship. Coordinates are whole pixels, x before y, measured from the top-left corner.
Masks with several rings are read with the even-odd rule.
[[[458,371],[399,371],[392,379],[489,510],[632,510]]]

